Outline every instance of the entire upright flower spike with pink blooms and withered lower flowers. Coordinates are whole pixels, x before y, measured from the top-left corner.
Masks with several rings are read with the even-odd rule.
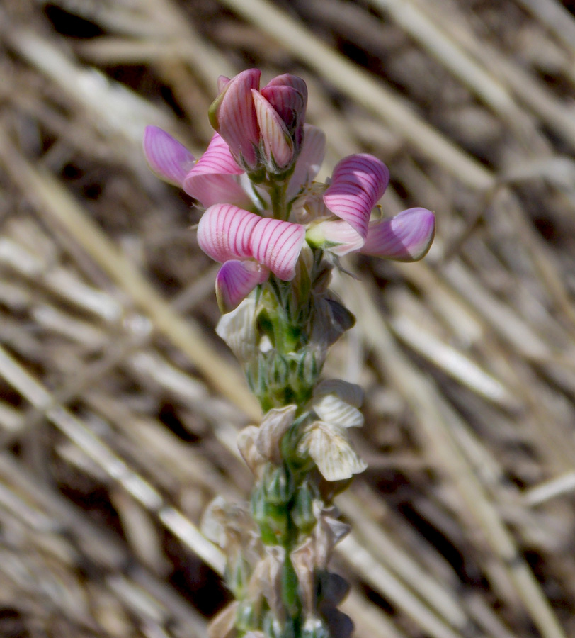
[[[347,585],[329,559],[349,528],[333,499],[365,469],[348,435],[363,424],[363,393],[321,376],[329,347],[354,323],[329,280],[351,252],[421,259],[435,217],[410,208],[371,220],[389,182],[372,155],[346,157],[329,184],[314,182],[325,138],[304,123],[304,81],[284,74],[260,89],[260,75],[220,77],[216,132],[200,159],[158,128],[144,136],[152,170],[205,208],[198,243],[222,264],[217,334],[263,412],[238,437],[254,474],[249,503],[217,498],[205,513],[235,598],[210,638],[346,638],[353,624],[337,605]]]

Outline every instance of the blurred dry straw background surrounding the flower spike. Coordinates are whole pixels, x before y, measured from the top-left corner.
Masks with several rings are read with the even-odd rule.
[[[366,388],[338,501],[360,638],[575,636],[575,15],[557,0],[0,2],[0,636],[200,638],[198,525],[257,418],[215,336],[198,152],[219,74],[300,74],[326,174],[364,150],[421,264],[353,262],[329,374]]]

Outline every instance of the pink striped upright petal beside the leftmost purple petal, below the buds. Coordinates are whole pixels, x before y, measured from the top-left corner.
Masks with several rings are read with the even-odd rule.
[[[243,172],[221,135],[215,133],[205,153],[186,175],[182,187],[206,208],[223,202],[249,207],[251,199],[236,177]]]

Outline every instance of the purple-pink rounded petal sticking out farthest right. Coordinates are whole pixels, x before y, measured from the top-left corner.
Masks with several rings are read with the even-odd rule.
[[[435,215],[427,208],[408,208],[391,219],[371,223],[359,252],[398,262],[416,262],[426,255],[434,236]]]

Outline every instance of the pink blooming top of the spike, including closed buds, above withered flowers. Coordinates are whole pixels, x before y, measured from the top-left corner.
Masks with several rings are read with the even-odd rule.
[[[409,208],[370,221],[389,183],[389,170],[372,155],[345,157],[329,185],[314,183],[325,138],[303,123],[303,80],[285,74],[261,91],[259,80],[257,69],[220,78],[220,96],[211,109],[218,132],[198,160],[164,130],[149,126],[144,135],[152,170],[207,209],[198,242],[222,263],[216,281],[222,310],[235,308],[271,273],[291,281],[305,241],[336,257],[359,252],[403,262],[421,259],[435,234],[433,213]],[[290,174],[279,178],[278,171],[290,164]],[[288,220],[271,218],[268,191],[260,181],[249,181],[249,172],[262,165],[268,183],[286,180]]]

